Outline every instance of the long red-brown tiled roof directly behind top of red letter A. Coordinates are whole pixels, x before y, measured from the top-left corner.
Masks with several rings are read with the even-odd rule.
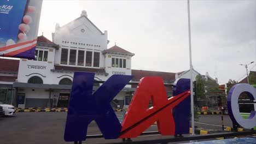
[[[132,74],[134,81],[140,80],[142,77],[145,76],[160,76],[164,81],[172,82],[175,81],[175,73],[167,73],[161,71],[148,71],[148,70],[136,70],[132,69]]]

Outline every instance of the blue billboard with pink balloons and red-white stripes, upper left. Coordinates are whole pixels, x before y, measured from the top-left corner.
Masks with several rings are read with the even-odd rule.
[[[34,59],[42,0],[0,1],[0,56]]]

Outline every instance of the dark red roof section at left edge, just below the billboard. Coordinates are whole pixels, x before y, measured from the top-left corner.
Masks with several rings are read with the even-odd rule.
[[[18,71],[20,60],[0,58],[0,71]]]

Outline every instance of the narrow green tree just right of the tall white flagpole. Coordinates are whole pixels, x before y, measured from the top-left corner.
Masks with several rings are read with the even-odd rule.
[[[196,76],[196,97],[197,100],[205,99],[205,79],[200,74]]]

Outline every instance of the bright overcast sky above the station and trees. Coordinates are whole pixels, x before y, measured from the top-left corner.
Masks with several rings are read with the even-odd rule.
[[[190,1],[194,69],[219,83],[241,80],[238,64],[256,61],[256,1]],[[187,1],[53,1],[44,0],[38,35],[50,40],[56,23],[88,18],[110,43],[135,53],[132,69],[176,73],[189,69]],[[255,63],[248,70],[255,70]]]

